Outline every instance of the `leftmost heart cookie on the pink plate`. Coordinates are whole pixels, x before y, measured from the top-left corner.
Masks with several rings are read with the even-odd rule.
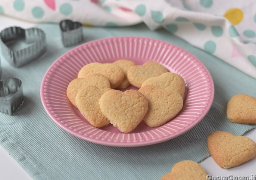
[[[76,95],[80,89],[85,88],[87,85],[93,85],[97,88],[110,88],[110,82],[106,76],[102,74],[92,74],[88,78],[73,79],[67,86],[67,98],[76,107]]]

